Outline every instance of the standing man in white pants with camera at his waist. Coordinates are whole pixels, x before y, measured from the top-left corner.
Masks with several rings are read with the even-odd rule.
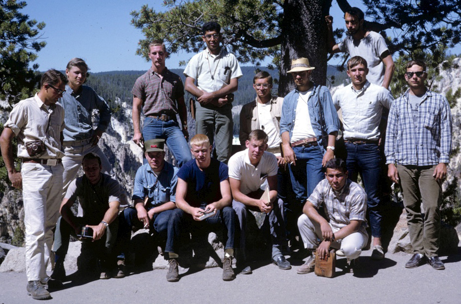
[[[27,292],[34,299],[49,299],[43,284],[52,259],[53,227],[58,218],[62,192],[61,150],[64,108],[57,103],[66,91],[67,79],[56,70],[41,77],[40,91],[19,101],[5,122],[0,146],[12,186],[23,189],[26,227]],[[17,136],[17,171],[13,160],[13,138]]]

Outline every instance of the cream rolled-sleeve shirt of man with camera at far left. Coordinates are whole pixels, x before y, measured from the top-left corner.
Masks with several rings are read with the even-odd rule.
[[[50,105],[47,110],[35,94],[14,105],[4,126],[17,136],[17,157],[30,158],[25,145],[34,140],[44,141],[47,149],[33,158],[60,159],[64,156],[60,141],[60,133],[65,126],[64,109],[59,103]]]

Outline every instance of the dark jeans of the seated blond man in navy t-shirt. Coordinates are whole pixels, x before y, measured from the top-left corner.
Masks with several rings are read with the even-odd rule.
[[[200,208],[205,209],[206,204],[202,204]],[[212,215],[202,221],[195,221],[191,214],[185,213],[181,209],[174,209],[170,216],[170,221],[168,222],[168,237],[166,239],[165,252],[178,253],[175,251],[177,250],[176,242],[178,241],[180,234],[188,232],[188,228],[192,225],[199,227],[208,226],[213,229],[215,229],[215,227],[222,228],[224,230],[223,235],[225,238],[224,250],[235,249],[235,218],[235,211],[229,206],[226,206],[221,210],[216,210],[215,215]]]

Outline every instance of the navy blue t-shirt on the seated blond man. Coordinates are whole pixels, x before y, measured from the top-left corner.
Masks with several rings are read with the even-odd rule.
[[[193,207],[222,199],[220,183],[228,177],[227,165],[213,158],[209,167],[203,171],[199,169],[195,159],[185,163],[178,171],[178,178],[187,183],[185,200]]]

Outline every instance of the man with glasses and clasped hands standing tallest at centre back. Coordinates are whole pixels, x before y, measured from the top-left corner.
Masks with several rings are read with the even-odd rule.
[[[232,153],[232,101],[242,77],[234,54],[222,48],[221,26],[209,21],[202,27],[206,50],[194,55],[184,70],[185,90],[197,101],[196,131],[215,143],[218,160],[227,163]]]

